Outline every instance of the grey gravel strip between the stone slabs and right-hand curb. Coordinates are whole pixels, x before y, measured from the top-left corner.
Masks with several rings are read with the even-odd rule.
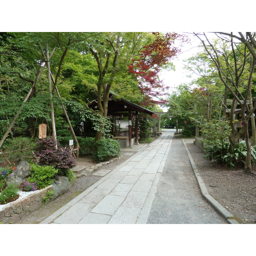
[[[180,137],[173,137],[147,223],[227,224],[202,197]]]

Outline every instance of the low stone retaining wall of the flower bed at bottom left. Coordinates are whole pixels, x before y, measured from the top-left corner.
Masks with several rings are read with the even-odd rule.
[[[15,224],[28,212],[33,212],[42,207],[44,205],[43,197],[46,196],[47,190],[51,191],[52,185],[37,190],[25,198],[9,203],[0,211],[0,222],[3,224]]]

